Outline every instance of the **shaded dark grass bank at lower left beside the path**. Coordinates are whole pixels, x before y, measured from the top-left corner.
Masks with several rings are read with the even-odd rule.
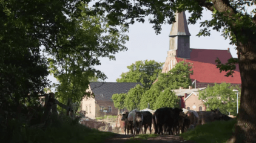
[[[13,143],[101,143],[106,138],[111,138],[115,133],[111,132],[100,132],[96,129],[90,129],[89,127],[81,124],[74,124],[72,122],[60,122],[56,121],[49,127],[44,129],[39,127],[22,127],[21,129],[13,131],[12,138]]]

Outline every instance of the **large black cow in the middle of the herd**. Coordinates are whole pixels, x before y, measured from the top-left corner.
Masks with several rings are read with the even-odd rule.
[[[154,121],[155,134],[172,134],[173,123],[178,121],[178,116],[182,111],[182,109],[172,109],[170,107],[157,109]]]

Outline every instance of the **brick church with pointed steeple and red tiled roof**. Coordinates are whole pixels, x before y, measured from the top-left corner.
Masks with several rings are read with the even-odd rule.
[[[217,57],[221,63],[226,63],[232,57],[229,48],[221,49],[194,49],[190,48],[191,36],[187,27],[187,20],[184,11],[175,13],[176,22],[172,24],[172,29],[169,34],[169,51],[167,52],[166,62],[164,63],[163,71],[168,72],[178,62],[184,61],[193,63],[192,70],[194,74],[190,78],[194,82],[196,88],[214,86],[214,83],[231,83],[233,86],[241,87],[240,71],[237,68],[234,71],[233,77],[224,76],[226,72],[221,72],[217,68],[215,60]]]

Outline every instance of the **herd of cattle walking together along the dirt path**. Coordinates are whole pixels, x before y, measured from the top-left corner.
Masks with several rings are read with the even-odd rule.
[[[225,120],[230,118],[224,115],[220,110],[211,111],[189,110],[186,113],[179,108],[163,107],[157,109],[153,114],[149,111],[132,110],[122,114],[121,121],[124,121],[124,133],[129,135],[146,134],[147,128],[152,132],[152,124],[155,129],[155,134],[161,135],[178,135],[187,130],[194,129],[195,126],[206,124],[207,122]]]

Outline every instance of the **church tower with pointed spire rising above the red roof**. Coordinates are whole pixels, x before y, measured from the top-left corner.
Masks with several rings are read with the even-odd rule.
[[[168,56],[190,59],[189,28],[185,12],[175,13],[175,21],[169,34],[170,47]]]

